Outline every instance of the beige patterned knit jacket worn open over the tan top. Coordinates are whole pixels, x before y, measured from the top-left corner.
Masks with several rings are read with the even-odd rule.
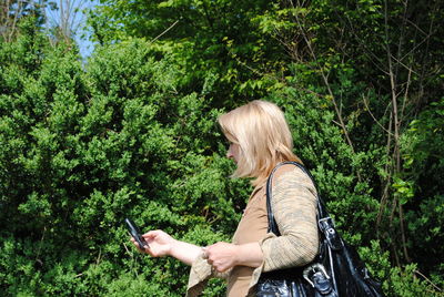
[[[304,266],[317,254],[316,190],[310,177],[294,165],[280,167],[273,176],[272,209],[281,236],[266,234],[260,246],[263,263],[254,269],[250,294],[262,273]],[[201,256],[192,264],[186,296],[199,296],[211,277],[226,278],[230,272],[218,274]]]

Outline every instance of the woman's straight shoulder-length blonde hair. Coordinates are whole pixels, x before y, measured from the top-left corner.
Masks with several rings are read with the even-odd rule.
[[[252,184],[256,186],[278,163],[301,162],[292,152],[293,139],[284,113],[275,104],[255,100],[218,120],[225,137],[240,146],[234,177],[255,177]]]

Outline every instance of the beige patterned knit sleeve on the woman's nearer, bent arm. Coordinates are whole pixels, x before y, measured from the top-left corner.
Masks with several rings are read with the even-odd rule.
[[[319,249],[316,190],[299,167],[273,180],[272,211],[281,236],[269,234],[260,244],[264,260],[259,270],[303,266]]]

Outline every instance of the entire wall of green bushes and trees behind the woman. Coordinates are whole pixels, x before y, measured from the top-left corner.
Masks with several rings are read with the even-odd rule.
[[[0,293],[183,295],[188,268],[137,253],[122,221],[230,240],[251,187],[228,178],[215,119],[263,98],[387,296],[438,295],[442,17],[438,1],[107,0],[87,64],[23,18],[0,40]]]

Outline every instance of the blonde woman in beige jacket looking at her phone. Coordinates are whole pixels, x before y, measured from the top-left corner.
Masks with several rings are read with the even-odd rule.
[[[162,231],[150,231],[143,235],[150,245],[144,252],[191,265],[188,296],[198,296],[210,277],[226,278],[229,297],[254,296],[262,273],[304,266],[316,256],[316,192],[300,168],[280,166],[273,175],[271,202],[281,236],[268,234],[266,178],[281,162],[301,162],[292,153],[293,140],[284,114],[273,103],[252,101],[221,115],[219,124],[230,141],[226,156],[238,165],[233,176],[254,178],[232,243],[199,247]]]

